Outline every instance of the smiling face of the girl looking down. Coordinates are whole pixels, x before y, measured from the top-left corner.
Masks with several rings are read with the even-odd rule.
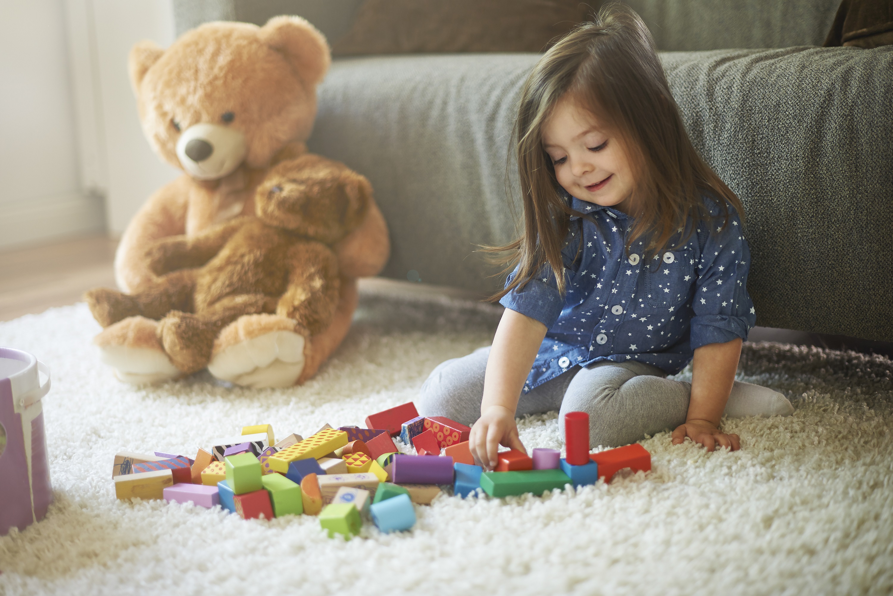
[[[543,148],[558,183],[573,197],[627,211],[632,172],[620,139],[599,129],[592,115],[571,99],[559,100],[545,122]]]

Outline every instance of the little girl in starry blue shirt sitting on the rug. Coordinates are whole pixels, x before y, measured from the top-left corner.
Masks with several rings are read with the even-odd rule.
[[[726,416],[787,416],[736,382],[755,322],[739,198],[692,147],[638,14],[603,8],[550,48],[515,122],[521,238],[493,345],[437,366],[420,412],[472,424],[472,455],[526,452],[515,416],[589,415],[592,446],[675,429],[739,449]],[[692,380],[666,379],[694,358]],[[475,422],[476,421],[476,422]]]

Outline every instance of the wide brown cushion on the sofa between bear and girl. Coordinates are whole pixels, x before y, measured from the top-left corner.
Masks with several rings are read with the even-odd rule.
[[[542,52],[591,10],[579,0],[366,0],[332,54]]]

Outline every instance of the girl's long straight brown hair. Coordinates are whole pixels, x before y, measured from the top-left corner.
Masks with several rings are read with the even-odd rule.
[[[541,140],[545,122],[563,97],[597,117],[630,160],[634,223],[627,251],[633,240],[647,237],[645,256],[650,258],[667,248],[680,228],[684,237],[676,246],[684,244],[692,232],[689,218],[697,223],[710,217],[702,196],[719,208],[723,227],[730,207],[744,217],[739,198],[692,147],[645,23],[624,4],[605,4],[593,21],[549,48],[524,83],[513,134],[523,231],[505,246],[483,248],[502,255],[497,260],[506,265],[503,273],[516,265],[518,273],[491,301],[521,290],[544,264],[555,273],[558,290],[566,290],[561,249],[576,213],[563,199]]]

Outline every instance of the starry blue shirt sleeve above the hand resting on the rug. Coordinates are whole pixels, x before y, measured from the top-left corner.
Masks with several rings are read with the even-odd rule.
[[[704,241],[692,301],[692,349],[736,338],[747,340],[747,333],[756,322],[756,311],[747,295],[750,251],[740,218],[732,213],[724,228],[722,218],[714,219],[709,225],[714,226],[713,233],[702,230],[699,234]]]

